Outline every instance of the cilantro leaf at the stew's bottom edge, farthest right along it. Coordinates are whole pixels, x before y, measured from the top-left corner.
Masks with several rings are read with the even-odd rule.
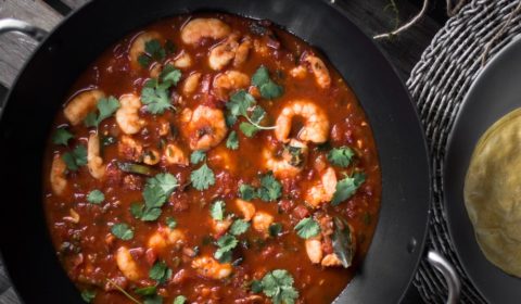
[[[276,269],[264,276],[263,292],[266,296],[271,297],[274,304],[293,304],[298,297],[293,282],[293,277],[288,270]]]

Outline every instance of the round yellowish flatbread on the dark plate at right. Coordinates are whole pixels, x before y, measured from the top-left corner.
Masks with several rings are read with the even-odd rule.
[[[505,273],[521,277],[521,109],[480,138],[463,194],[483,254]]]

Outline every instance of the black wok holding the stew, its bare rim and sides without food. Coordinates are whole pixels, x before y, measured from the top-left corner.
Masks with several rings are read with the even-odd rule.
[[[399,302],[423,256],[430,202],[425,141],[406,89],[378,48],[319,0],[93,1],[58,26],[23,68],[0,121],[0,248],[18,294],[27,303],[82,303],[54,254],[41,200],[43,150],[71,85],[128,31],[201,10],[271,20],[321,49],[352,87],[374,131],[383,199],[370,251],[338,303]]]

